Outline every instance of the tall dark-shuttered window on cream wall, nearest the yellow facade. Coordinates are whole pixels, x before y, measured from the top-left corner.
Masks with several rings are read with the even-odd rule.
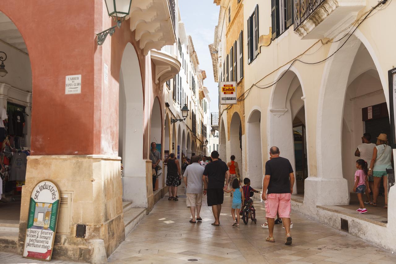
[[[259,55],[259,5],[256,5],[254,12],[247,19],[247,63],[251,63],[257,55]]]

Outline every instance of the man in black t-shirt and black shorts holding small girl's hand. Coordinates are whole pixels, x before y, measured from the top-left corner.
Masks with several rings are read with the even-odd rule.
[[[224,199],[223,189],[227,189],[230,172],[227,164],[224,161],[219,161],[219,153],[217,151],[212,151],[211,157],[212,162],[205,166],[202,180],[204,180],[204,195],[208,193],[208,206],[212,207],[213,215],[215,216],[215,222],[212,225],[220,226],[219,218]],[[208,177],[208,180],[206,180],[206,177]],[[226,177],[227,184],[224,185]]]

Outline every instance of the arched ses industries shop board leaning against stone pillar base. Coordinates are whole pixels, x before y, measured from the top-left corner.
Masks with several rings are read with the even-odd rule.
[[[30,195],[23,256],[51,260],[59,213],[59,188],[49,180],[39,182]]]

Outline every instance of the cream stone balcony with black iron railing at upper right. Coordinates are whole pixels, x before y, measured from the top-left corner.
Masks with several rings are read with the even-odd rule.
[[[333,38],[365,6],[366,0],[294,0],[294,31],[302,39]]]

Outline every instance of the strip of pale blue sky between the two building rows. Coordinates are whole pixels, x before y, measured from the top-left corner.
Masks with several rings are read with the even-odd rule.
[[[200,63],[199,67],[206,72],[204,86],[209,90],[210,112],[218,112],[219,92],[213,77],[209,44],[212,44],[214,40],[220,7],[213,4],[213,0],[179,0],[179,10],[187,36],[191,35],[192,37]]]

